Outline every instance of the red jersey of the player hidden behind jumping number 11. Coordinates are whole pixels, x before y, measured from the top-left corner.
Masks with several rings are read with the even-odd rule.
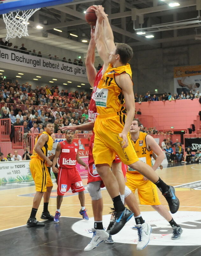
[[[94,81],[93,94],[92,94],[92,97],[91,97],[91,100],[90,100],[90,104],[89,104],[89,113],[88,113],[89,121],[94,121],[95,118],[96,118],[96,116],[94,115],[94,113],[97,113],[96,102],[94,100],[94,93],[96,92],[97,85],[98,85],[99,81],[102,78],[102,69],[103,68],[101,68],[98,71],[98,73],[96,74],[95,81]]]

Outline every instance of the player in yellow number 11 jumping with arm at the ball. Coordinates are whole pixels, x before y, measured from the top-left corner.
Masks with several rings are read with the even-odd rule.
[[[149,165],[139,161],[134,151],[132,141],[128,136],[135,112],[132,71],[128,64],[133,57],[133,50],[127,44],[114,44],[113,33],[104,8],[99,5],[95,6],[94,10],[97,18],[104,20],[104,36],[96,37],[96,29],[99,26],[96,27],[95,41],[99,40],[99,43],[102,41],[103,45],[106,44],[110,54],[106,51],[98,51],[103,60],[109,59],[109,66],[103,71],[104,74],[94,97],[98,115],[94,125],[93,156],[97,172],[104,181],[114,204],[116,220],[110,230],[110,234],[114,235],[133,216],[133,213],[123,205],[118,182],[110,171],[115,155],[118,155],[124,164],[138,170],[156,184],[166,197],[171,212],[178,210],[179,200],[174,195],[173,188],[165,184]],[[122,113],[124,105],[127,117]]]

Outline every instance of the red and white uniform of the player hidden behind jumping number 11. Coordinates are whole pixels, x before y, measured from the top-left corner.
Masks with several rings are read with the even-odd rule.
[[[95,81],[94,81],[93,94],[92,94],[90,104],[89,104],[89,113],[88,113],[89,121],[95,121],[95,119],[96,119],[97,108],[96,108],[96,102],[95,102],[95,100],[93,100],[93,98],[94,98],[93,96],[94,96],[94,93],[96,92],[97,85],[98,85],[99,81],[102,78],[102,69],[103,68],[101,68],[98,71],[98,73],[96,75],[96,78],[95,78]],[[88,181],[87,181],[87,183],[102,180],[101,177],[98,175],[97,170],[96,170],[96,166],[94,164],[94,158],[93,158],[93,155],[92,155],[93,144],[94,144],[94,132],[93,132],[93,135],[90,138],[90,144],[89,144],[89,159],[88,159],[89,172],[88,172]],[[118,158],[118,156],[116,156],[113,163],[120,163],[120,162],[121,162],[120,159]],[[125,177],[126,176],[126,168],[123,165],[122,165],[122,171],[123,171],[124,177]],[[103,188],[103,187],[104,187],[104,184],[101,185],[101,188]]]

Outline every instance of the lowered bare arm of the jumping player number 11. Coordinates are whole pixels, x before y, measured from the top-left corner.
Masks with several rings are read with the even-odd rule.
[[[122,89],[127,110],[126,122],[119,136],[123,139],[123,148],[128,146],[127,134],[135,115],[135,101],[133,93],[133,81],[126,73],[115,76],[118,86]]]

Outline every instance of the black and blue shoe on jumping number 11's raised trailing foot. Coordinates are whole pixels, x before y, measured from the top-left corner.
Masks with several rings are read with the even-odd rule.
[[[175,196],[175,188],[169,186],[168,192],[163,193],[163,196],[165,196],[165,199],[168,202],[170,212],[177,212],[179,209],[179,199]]]

